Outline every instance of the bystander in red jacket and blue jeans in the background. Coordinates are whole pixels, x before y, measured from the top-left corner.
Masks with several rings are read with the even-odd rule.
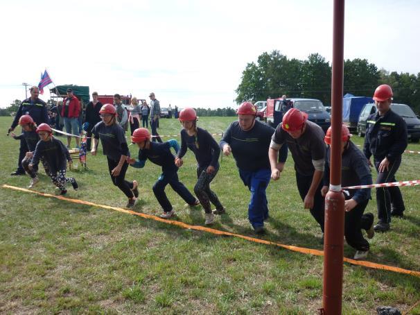
[[[61,116],[64,118],[64,126],[66,126],[67,133],[72,135],[79,135],[79,114],[80,102],[76,96],[73,95],[72,89],[67,89],[67,97],[63,101]],[[73,131],[73,133],[71,132]],[[76,137],[76,148],[79,148],[80,139]],[[67,148],[70,148],[71,135],[67,136]]]

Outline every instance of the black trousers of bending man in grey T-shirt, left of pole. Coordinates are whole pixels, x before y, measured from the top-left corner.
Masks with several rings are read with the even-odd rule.
[[[297,189],[299,190],[300,197],[304,201],[306,194],[308,194],[310,184],[312,183],[313,176],[304,176],[296,172]],[[320,185],[315,191],[313,198],[313,208],[310,209],[310,214],[314,217],[315,221],[320,225],[322,232],[324,232],[324,197],[321,195],[322,180]]]

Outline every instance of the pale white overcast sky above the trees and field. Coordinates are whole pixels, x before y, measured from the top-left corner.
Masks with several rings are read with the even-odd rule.
[[[243,69],[264,51],[332,55],[332,0],[14,0],[0,12],[2,108],[44,69],[55,85],[99,94],[235,108]],[[419,17],[418,0],[347,1],[344,58],[419,73]]]

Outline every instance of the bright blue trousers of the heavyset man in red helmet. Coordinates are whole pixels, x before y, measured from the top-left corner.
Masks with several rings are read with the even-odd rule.
[[[248,205],[248,219],[253,228],[263,227],[268,219],[268,201],[265,189],[270,182],[271,170],[245,171],[239,169],[240,179],[251,191],[251,201]]]

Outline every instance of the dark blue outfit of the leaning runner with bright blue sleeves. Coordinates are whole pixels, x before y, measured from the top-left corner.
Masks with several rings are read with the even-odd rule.
[[[168,184],[184,199],[184,201],[186,201],[186,203],[189,205],[195,204],[195,197],[178,179],[178,168],[175,165],[175,156],[170,152],[171,147],[174,148],[176,152],[180,149],[177,141],[174,139],[170,139],[168,142],[164,143],[150,142],[150,148],[139,150],[139,160],[132,164],[132,167],[142,168],[144,167],[146,160],[150,160],[150,162],[162,167],[161,176],[159,176],[157,182],[153,185],[153,193],[164,212],[173,210],[173,207],[165,194],[165,187]]]

